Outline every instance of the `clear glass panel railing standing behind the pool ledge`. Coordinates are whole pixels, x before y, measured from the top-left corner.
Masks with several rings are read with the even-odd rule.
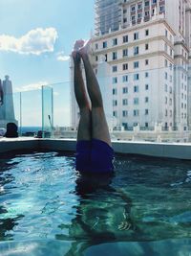
[[[168,66],[112,72],[112,67],[103,64],[101,70],[97,79],[112,139],[159,143],[191,141],[188,68]],[[105,76],[109,72],[112,75]],[[19,135],[76,138],[79,110],[72,83],[59,82],[38,90],[13,93]],[[11,95],[6,97],[10,102]],[[6,107],[9,112],[9,106]],[[1,112],[2,109],[1,106]],[[0,117],[3,119],[1,113]],[[8,118],[9,122],[11,120]],[[0,127],[4,127],[2,120],[0,122]]]

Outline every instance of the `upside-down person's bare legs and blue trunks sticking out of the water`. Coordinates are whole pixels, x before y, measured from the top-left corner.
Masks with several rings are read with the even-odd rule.
[[[114,151],[100,88],[88,56],[89,43],[77,40],[72,53],[74,58],[74,94],[80,110],[76,144],[76,170],[85,173],[108,174],[114,169]],[[81,59],[85,68],[87,90],[82,77]]]

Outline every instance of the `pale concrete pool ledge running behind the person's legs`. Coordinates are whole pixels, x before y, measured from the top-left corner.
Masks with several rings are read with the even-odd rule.
[[[0,138],[0,153],[7,151],[75,151],[75,139]],[[113,141],[117,153],[191,160],[191,143]]]

